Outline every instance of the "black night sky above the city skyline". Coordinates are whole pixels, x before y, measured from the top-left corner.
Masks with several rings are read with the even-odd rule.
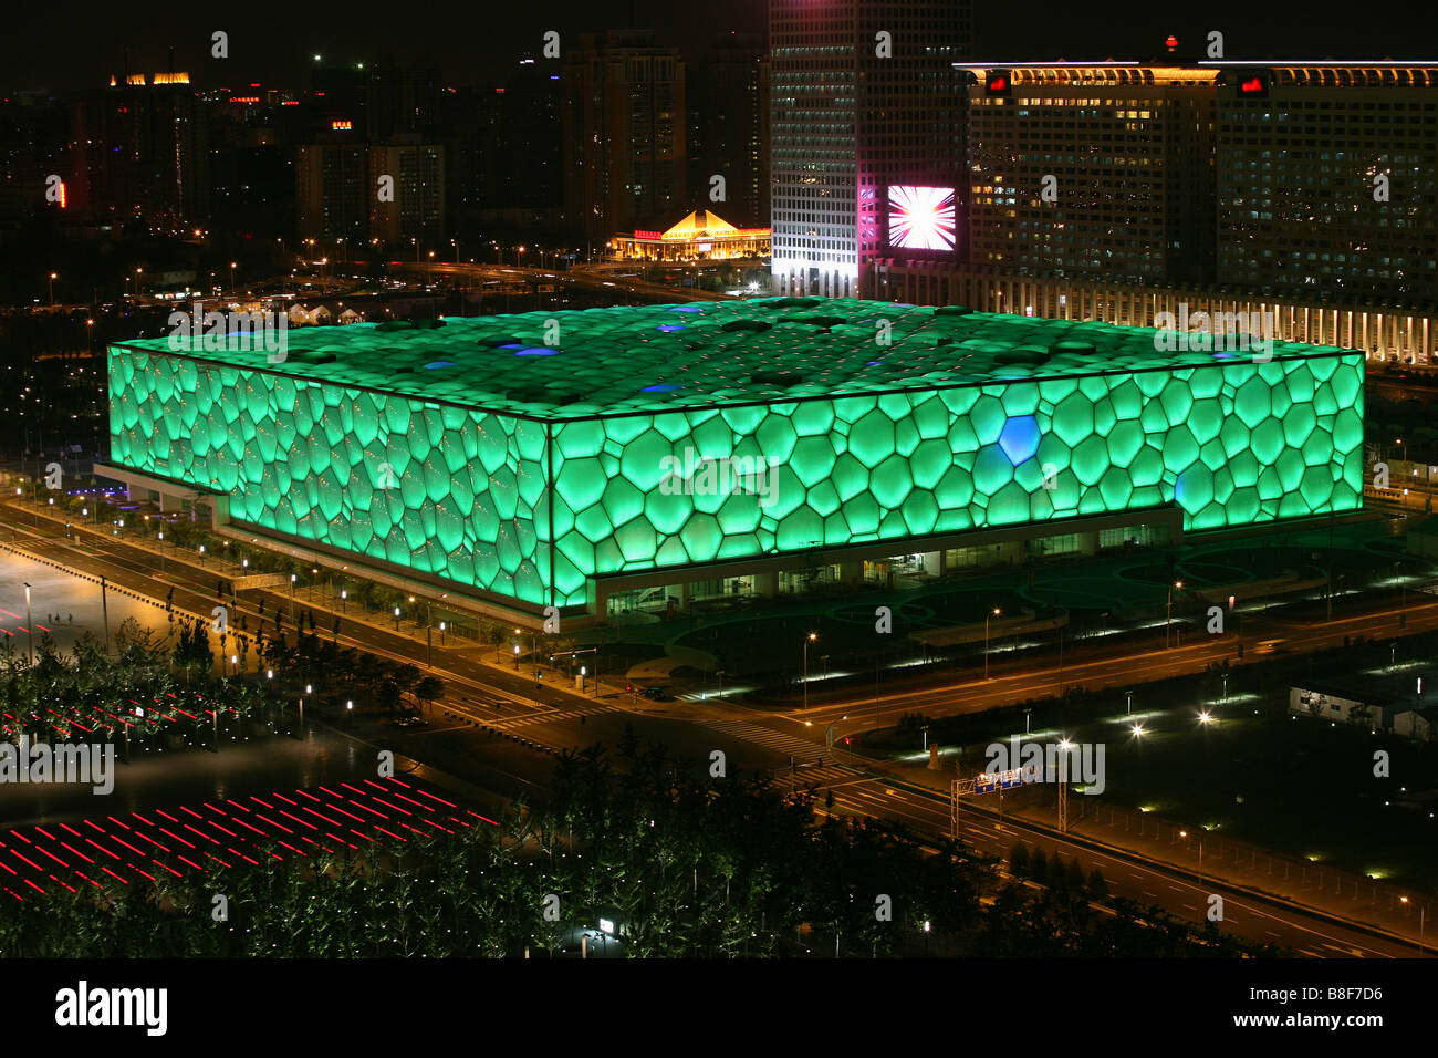
[[[824,0],[810,0],[824,3]],[[393,19],[372,12],[393,10]],[[1224,32],[1228,58],[1438,59],[1438,14],[1431,3],[1301,3],[1299,0],[1162,0],[1048,3],[978,0],[976,59],[1149,59],[1168,33],[1202,40]],[[697,46],[729,30],[762,33],[766,0],[542,0],[456,4],[372,0],[342,4],[256,3],[198,6],[193,0],[135,3],[24,3],[6,13],[0,91],[96,86],[121,71],[175,69],[204,88],[259,81],[305,88],[318,52],[342,62],[394,59],[436,65],[456,85],[499,83],[545,30],[568,35],[643,26],[661,40]],[[230,59],[210,60],[210,33],[230,35]]]

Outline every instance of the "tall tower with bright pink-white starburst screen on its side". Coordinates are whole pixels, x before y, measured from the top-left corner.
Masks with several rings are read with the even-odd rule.
[[[966,0],[769,0],[774,289],[853,297],[881,259],[952,259]]]

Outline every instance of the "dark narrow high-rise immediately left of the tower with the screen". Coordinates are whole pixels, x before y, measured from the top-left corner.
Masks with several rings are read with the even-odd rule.
[[[769,60],[758,35],[731,33],[687,63],[689,189],[742,227],[769,225]],[[715,197],[723,177],[723,197]]]

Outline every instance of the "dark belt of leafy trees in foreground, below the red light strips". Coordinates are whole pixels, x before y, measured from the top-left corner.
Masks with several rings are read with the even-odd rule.
[[[962,845],[929,855],[903,829],[818,822],[764,780],[621,753],[623,770],[598,747],[565,756],[552,800],[498,826],[16,903],[0,954],[572,956],[600,917],[631,957],[1260,951],[1152,910],[1099,913],[1087,891],[1004,885]]]

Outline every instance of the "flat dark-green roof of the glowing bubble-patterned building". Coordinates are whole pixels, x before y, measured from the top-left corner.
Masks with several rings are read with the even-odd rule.
[[[253,350],[223,351],[168,337],[115,347],[555,420],[1222,370],[1252,356],[1163,351],[1156,334],[961,307],[762,298],[295,328],[278,364],[257,341]],[[1339,356],[1362,354],[1273,343],[1274,361]]]

